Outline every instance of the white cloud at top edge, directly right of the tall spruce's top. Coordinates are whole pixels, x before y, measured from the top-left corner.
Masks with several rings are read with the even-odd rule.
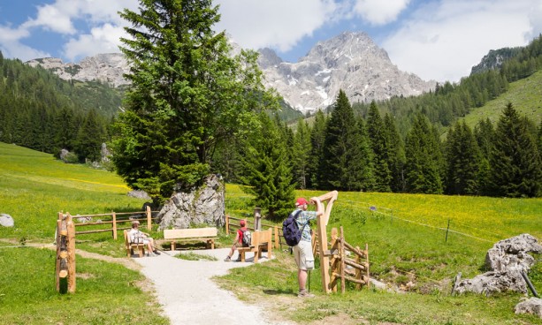
[[[226,30],[247,49],[292,49],[305,36],[337,17],[341,5],[332,0],[216,0],[218,31]]]

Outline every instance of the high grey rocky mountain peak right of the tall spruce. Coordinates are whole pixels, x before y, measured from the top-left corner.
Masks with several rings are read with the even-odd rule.
[[[270,49],[266,57],[271,57]],[[262,66],[267,87],[275,87],[294,109],[322,110],[335,101],[339,90],[351,103],[386,100],[428,92],[436,85],[415,74],[401,72],[386,50],[365,33],[342,33],[318,42],[297,63]]]

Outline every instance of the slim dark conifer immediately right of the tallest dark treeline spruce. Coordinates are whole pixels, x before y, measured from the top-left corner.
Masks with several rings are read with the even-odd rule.
[[[370,148],[373,153],[373,166],[375,174],[375,191],[391,192],[392,172],[388,165],[389,150],[386,127],[378,112],[377,103],[371,102],[369,117],[367,117],[367,132],[369,134]]]

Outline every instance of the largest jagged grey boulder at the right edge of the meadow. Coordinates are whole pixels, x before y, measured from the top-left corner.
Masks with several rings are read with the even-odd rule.
[[[485,266],[490,271],[465,280],[458,274],[452,293],[470,291],[489,296],[495,292],[517,291],[526,294],[527,283],[522,272],[527,274],[536,262],[529,253],[542,253],[537,238],[530,234],[500,240],[485,255]]]

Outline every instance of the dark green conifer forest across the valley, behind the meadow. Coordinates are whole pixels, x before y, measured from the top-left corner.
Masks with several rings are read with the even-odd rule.
[[[520,116],[513,102],[502,107],[496,124],[485,119],[470,128],[457,121],[541,66],[538,37],[500,70],[447,82],[430,94],[351,105],[341,91],[328,114],[318,111],[310,125],[300,119],[294,127],[272,112],[263,114],[261,130],[250,139],[218,143],[210,170],[228,182],[268,182],[287,193],[296,187],[538,197],[541,122]],[[54,155],[67,149],[78,162],[99,160],[114,118],[111,109],[103,108],[118,108],[118,93],[98,85],[103,90],[89,100],[74,82],[1,53],[0,73],[0,141]],[[271,173],[273,178],[254,177]]]

